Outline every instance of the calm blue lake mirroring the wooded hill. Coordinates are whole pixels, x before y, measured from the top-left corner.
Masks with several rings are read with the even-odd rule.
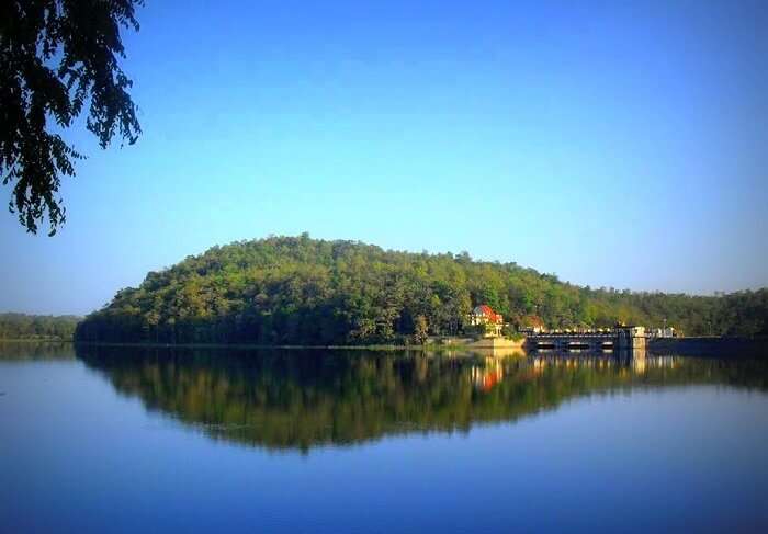
[[[0,344],[0,532],[768,532],[765,360]]]

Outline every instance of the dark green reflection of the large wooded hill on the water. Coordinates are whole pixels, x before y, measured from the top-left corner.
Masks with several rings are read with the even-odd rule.
[[[581,395],[676,384],[765,389],[765,365],[691,359],[78,348],[114,387],[213,436],[270,448],[512,421]]]

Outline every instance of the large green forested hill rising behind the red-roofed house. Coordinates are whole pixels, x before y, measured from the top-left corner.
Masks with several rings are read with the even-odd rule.
[[[513,327],[609,327],[687,334],[768,333],[768,291],[718,297],[591,289],[468,254],[385,251],[352,241],[270,237],[214,247],[117,292],[78,326],[81,341],[389,343],[462,331],[488,304]]]

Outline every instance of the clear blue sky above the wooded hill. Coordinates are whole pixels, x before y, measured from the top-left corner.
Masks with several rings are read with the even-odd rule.
[[[305,230],[594,287],[768,285],[764,0],[147,4],[144,135],[72,133],[55,237],[0,215],[0,310],[84,314]]]

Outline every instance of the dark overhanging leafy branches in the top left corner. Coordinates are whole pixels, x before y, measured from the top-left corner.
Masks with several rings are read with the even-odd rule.
[[[8,0],[0,2],[0,178],[13,184],[9,208],[36,234],[66,221],[60,177],[83,156],[56,129],[88,105],[86,127],[106,148],[115,134],[133,145],[142,128],[117,64],[120,30],[138,30],[144,0]],[[55,126],[53,126],[54,123]]]

